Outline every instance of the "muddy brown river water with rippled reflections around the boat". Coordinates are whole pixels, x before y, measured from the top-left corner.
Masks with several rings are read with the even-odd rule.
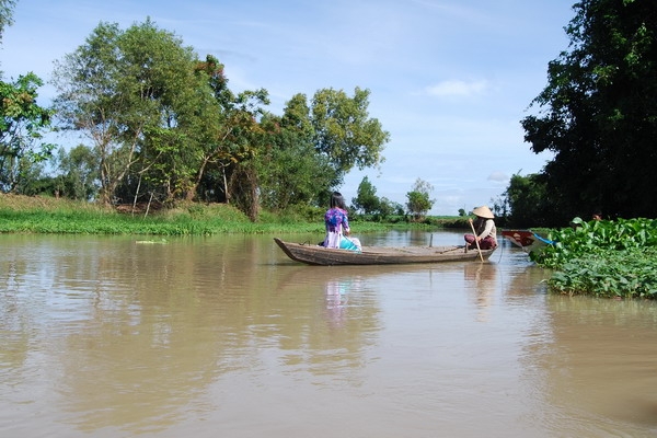
[[[0,245],[2,437],[657,436],[655,303],[549,293],[508,244],[369,267],[270,235]]]

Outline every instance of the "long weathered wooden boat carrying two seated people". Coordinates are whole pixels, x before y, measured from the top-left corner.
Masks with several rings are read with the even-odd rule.
[[[408,263],[476,262],[487,260],[495,250],[468,250],[465,246],[364,246],[361,252],[337,250],[311,243],[274,241],[296,262],[308,265],[397,265]]]

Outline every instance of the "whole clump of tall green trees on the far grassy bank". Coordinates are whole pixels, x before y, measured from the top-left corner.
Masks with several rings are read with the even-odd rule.
[[[264,110],[266,90],[231,92],[218,59],[198,60],[150,19],[126,31],[101,23],[57,64],[54,84],[64,126],[93,141],[107,205],[226,201],[255,221],[261,207],[319,204],[354,166],[378,165],[389,141],[368,115],[369,91],[320,90],[312,105],[297,94],[278,117]]]

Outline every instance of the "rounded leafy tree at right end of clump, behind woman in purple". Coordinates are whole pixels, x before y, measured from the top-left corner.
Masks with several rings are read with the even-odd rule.
[[[389,135],[368,118],[369,92],[357,89],[355,94],[350,99],[342,91],[320,90],[309,104],[299,93],[281,117],[263,117],[267,139],[256,161],[266,206],[326,205],[348,170],[382,161]]]

